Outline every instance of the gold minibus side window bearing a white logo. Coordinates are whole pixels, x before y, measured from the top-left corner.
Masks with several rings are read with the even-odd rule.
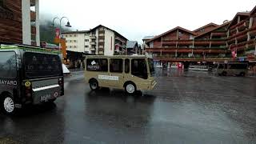
[[[86,59],[86,70],[89,71],[108,71],[106,58],[88,58]]]

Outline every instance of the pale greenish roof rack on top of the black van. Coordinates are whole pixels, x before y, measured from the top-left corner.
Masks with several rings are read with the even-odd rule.
[[[50,52],[54,54],[60,54],[60,50],[52,50],[47,48],[42,48],[40,46],[30,46],[25,44],[17,44],[17,43],[10,43],[10,42],[0,42],[0,50],[1,49],[14,49],[14,48],[21,48],[23,50],[34,50],[39,52]]]

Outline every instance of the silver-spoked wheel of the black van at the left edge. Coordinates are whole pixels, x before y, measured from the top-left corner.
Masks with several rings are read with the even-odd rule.
[[[1,101],[1,108],[5,114],[14,114],[14,98],[9,95],[3,96]]]

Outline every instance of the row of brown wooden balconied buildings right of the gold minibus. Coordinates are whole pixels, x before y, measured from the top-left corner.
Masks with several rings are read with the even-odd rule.
[[[162,62],[255,60],[255,9],[220,26],[210,23],[194,31],[178,26],[147,40],[146,54]]]

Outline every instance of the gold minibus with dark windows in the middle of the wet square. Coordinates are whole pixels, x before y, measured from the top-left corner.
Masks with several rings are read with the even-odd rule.
[[[146,56],[100,56],[86,57],[86,82],[91,90],[111,87],[134,94],[136,90],[153,90],[157,84],[153,77],[153,61]]]

